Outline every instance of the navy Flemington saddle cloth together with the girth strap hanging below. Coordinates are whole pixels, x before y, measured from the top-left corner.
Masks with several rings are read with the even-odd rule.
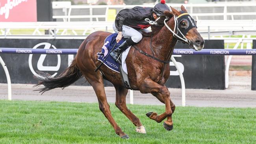
[[[119,56],[119,59],[120,61],[122,61],[122,64],[119,64],[111,56],[109,56],[109,53],[113,48],[115,50],[120,46],[120,44],[122,44],[122,42],[126,40],[126,38],[122,38],[120,42],[116,43],[116,40],[115,40],[116,37],[117,37],[117,33],[113,33],[105,39],[101,52],[97,53],[98,60],[101,62],[104,62],[103,64],[106,65],[109,69],[120,73],[122,77],[122,82],[124,83],[124,86],[126,87],[126,89],[132,89],[130,87],[126,63],[125,63],[125,59],[130,50],[130,47],[127,47],[126,50],[124,50]]]

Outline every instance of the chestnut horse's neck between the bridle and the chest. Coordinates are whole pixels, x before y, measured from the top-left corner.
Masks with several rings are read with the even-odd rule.
[[[171,18],[167,24],[170,28],[174,29],[174,18]],[[173,33],[163,26],[161,30],[153,36],[152,48],[159,59],[168,60],[171,59],[171,53],[177,42],[177,39],[173,37]]]

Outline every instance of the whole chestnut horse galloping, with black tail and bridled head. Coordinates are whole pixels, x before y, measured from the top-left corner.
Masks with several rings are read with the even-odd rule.
[[[149,112],[146,115],[156,122],[163,122],[167,130],[173,129],[172,114],[175,105],[170,98],[170,92],[165,86],[165,82],[170,75],[169,60],[174,46],[178,40],[189,44],[195,50],[204,47],[204,40],[196,29],[195,21],[189,16],[184,6],[182,11],[172,8],[172,12],[165,11],[164,16],[158,20],[158,26],[152,25],[152,32],[147,33],[148,37],[143,37],[142,41],[132,46],[126,58],[130,86],[133,90],[141,93],[151,93],[160,102],[165,103],[165,113],[157,114]],[[186,33],[184,33],[186,31]],[[136,131],[146,133],[145,127],[126,107],[126,94],[128,89],[122,83],[121,75],[102,65],[98,71],[95,68],[100,65],[97,60],[97,53],[101,51],[104,39],[111,33],[96,31],[91,33],[80,45],[78,53],[71,65],[62,72],[57,78],[52,78],[44,74],[44,78],[39,79],[35,86],[44,85],[40,92],[55,88],[65,88],[74,83],[79,78],[85,77],[92,85],[98,98],[100,111],[106,116],[110,124],[115,129],[115,133],[121,138],[129,138],[113,119],[107,102],[103,79],[113,83],[116,90],[115,105],[129,118],[136,126]],[[151,37],[149,37],[151,35]],[[146,54],[145,54],[146,53]],[[148,57],[150,55],[151,57]],[[153,56],[152,56],[153,55]]]

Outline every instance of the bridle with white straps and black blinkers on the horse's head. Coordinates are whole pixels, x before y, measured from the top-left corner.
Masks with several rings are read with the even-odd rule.
[[[168,28],[168,30],[170,30],[172,33],[173,33],[173,36],[176,38],[176,39],[178,39],[178,41],[181,41],[181,42],[183,42],[183,43],[186,43],[186,44],[188,44],[189,45],[189,48],[193,48],[193,49],[195,49],[194,48],[194,46],[193,46],[193,43],[191,42],[191,41],[189,41],[189,39],[187,39],[186,37],[185,37],[185,35],[181,32],[181,30],[180,30],[180,28],[179,28],[179,24],[178,24],[178,19],[179,18],[181,18],[181,17],[183,17],[183,16],[185,16],[185,15],[189,15],[188,13],[182,13],[182,14],[180,14],[178,17],[176,17],[175,15],[173,16],[174,17],[174,30],[172,30],[167,24],[166,24],[166,21],[167,20],[169,20],[169,18],[165,18],[165,20],[163,21],[164,22],[164,24],[165,24],[165,26]],[[188,16],[188,17],[190,17],[190,16]],[[191,17],[190,17],[191,18]],[[186,19],[188,19],[188,18],[186,18]],[[192,18],[191,18],[192,19]],[[188,20],[188,22],[190,23],[190,24],[192,24],[192,22],[191,22],[191,19],[189,19]],[[193,20],[193,19],[192,19]],[[195,22],[194,22],[195,23]],[[194,24],[195,25],[195,24]],[[191,26],[190,27],[190,29],[191,28],[197,28],[196,26]],[[175,33],[175,31],[176,31],[176,29],[177,29],[177,32]],[[188,29],[187,31],[189,31],[190,29]],[[179,35],[181,35],[181,36],[179,36]]]

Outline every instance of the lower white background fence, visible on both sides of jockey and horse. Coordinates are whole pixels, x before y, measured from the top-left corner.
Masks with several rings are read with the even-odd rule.
[[[52,36],[86,36],[97,30],[113,32],[112,24],[113,22],[0,22],[0,37],[15,35],[12,31],[17,29],[30,30],[31,32],[26,32],[26,35],[43,36],[47,30]],[[198,20],[197,26],[203,37],[255,35],[256,20]]]

